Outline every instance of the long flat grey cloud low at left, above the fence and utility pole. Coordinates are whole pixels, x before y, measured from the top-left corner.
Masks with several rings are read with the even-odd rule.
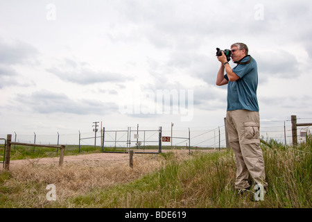
[[[92,99],[70,99],[65,94],[58,94],[41,90],[31,95],[18,94],[15,101],[21,107],[43,114],[70,113],[70,114],[105,114],[118,110],[115,103],[103,103]]]

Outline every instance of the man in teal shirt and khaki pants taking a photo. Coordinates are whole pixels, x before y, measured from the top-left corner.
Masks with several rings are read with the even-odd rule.
[[[260,119],[257,100],[257,62],[248,55],[248,46],[234,43],[231,46],[233,69],[222,52],[218,56],[220,69],[216,85],[227,84],[226,127],[229,145],[236,157],[235,189],[241,194],[250,189],[249,174],[257,185],[268,187],[264,160],[260,147]]]

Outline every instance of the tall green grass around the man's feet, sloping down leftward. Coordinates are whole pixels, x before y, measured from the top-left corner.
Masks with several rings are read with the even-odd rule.
[[[297,147],[268,143],[271,148],[262,147],[269,184],[263,201],[255,202],[252,190],[237,194],[232,151],[193,153],[180,163],[167,153],[155,173],[70,201],[76,207],[312,207],[311,139]]]

